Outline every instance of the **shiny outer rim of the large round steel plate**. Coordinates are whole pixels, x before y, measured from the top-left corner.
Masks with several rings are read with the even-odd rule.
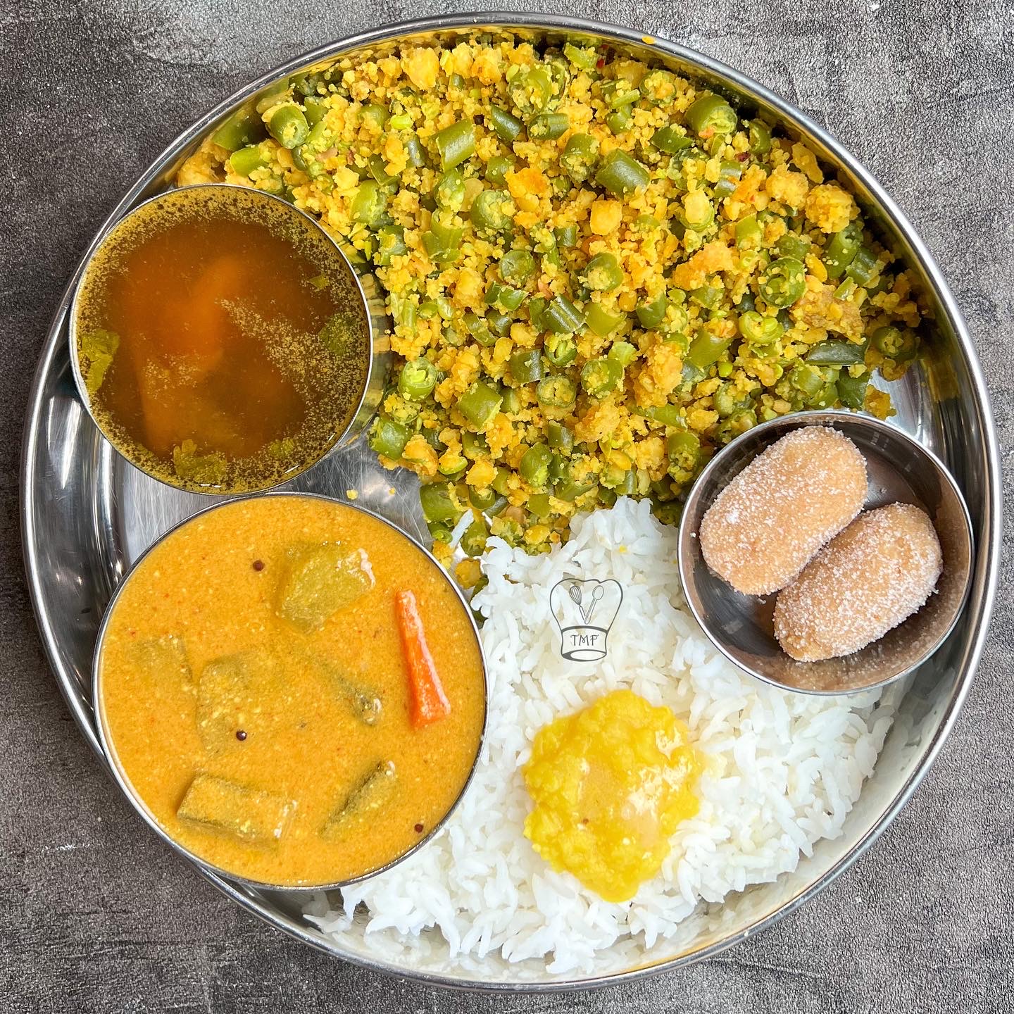
[[[870,846],[880,837],[886,827],[893,821],[901,807],[909,801],[919,783],[925,777],[930,767],[937,757],[944,741],[949,736],[954,722],[960,712],[961,706],[968,694],[971,680],[982,660],[983,651],[989,633],[989,625],[992,620],[995,604],[997,586],[999,582],[999,560],[1002,545],[1002,486],[1001,486],[1001,464],[1000,448],[991,410],[989,389],[986,385],[982,366],[979,362],[975,347],[971,341],[967,324],[961,314],[954,299],[946,279],[943,276],[936,260],[925,245],[922,237],[915,230],[908,217],[900,210],[894,200],[886,193],[880,184],[873,177],[863,163],[841,144],[834,136],[825,131],[819,124],[815,123],[804,113],[798,110],[793,103],[777,95],[766,86],[754,81],[739,70],[715,60],[706,54],[699,53],[679,43],[673,42],[664,35],[648,34],[638,32],[634,28],[611,24],[588,18],[572,17],[569,15],[549,14],[529,11],[488,11],[488,12],[466,12],[460,14],[440,14],[429,17],[413,18],[404,21],[387,22],[375,28],[365,31],[345,35],[337,40],[321,44],[313,49],[292,57],[271,70],[262,74],[254,81],[239,88],[231,95],[213,106],[209,112],[194,121],[183,133],[177,135],[149,164],[135,183],[127,190],[113,211],[101,222],[94,233],[91,242],[86,247],[77,267],[64,289],[63,295],[57,305],[50,328],[47,332],[46,341],[43,346],[39,364],[31,380],[28,406],[25,413],[24,428],[21,443],[21,462],[19,467],[19,499],[20,499],[20,527],[22,539],[22,555],[27,578],[28,594],[31,600],[32,611],[35,623],[39,627],[41,640],[43,642],[44,653],[51,670],[57,678],[61,694],[64,697],[71,714],[75,719],[81,733],[92,749],[98,755],[101,767],[106,776],[112,778],[108,764],[101,752],[97,735],[93,725],[93,716],[90,709],[86,708],[83,702],[72,691],[73,680],[63,665],[57,647],[57,639],[53,634],[53,618],[51,618],[45,606],[45,598],[42,592],[40,578],[41,565],[35,552],[35,515],[29,490],[34,486],[34,462],[38,455],[38,434],[39,421],[43,408],[42,393],[47,376],[53,368],[54,360],[57,358],[61,348],[61,335],[65,324],[69,304],[73,295],[73,290],[81,275],[84,265],[91,257],[94,248],[106,230],[118,221],[127,210],[129,210],[144,190],[151,186],[160,172],[164,171],[171,159],[175,157],[183,148],[194,139],[206,132],[223,114],[231,110],[238,102],[246,99],[260,88],[271,83],[278,78],[290,74],[300,67],[340,56],[363,47],[388,42],[401,37],[412,35],[419,32],[441,31],[456,28],[505,28],[505,29],[548,29],[587,32],[612,39],[621,43],[635,46],[654,46],[660,51],[667,53],[689,65],[702,68],[720,79],[731,81],[736,87],[742,89],[747,94],[754,95],[776,108],[779,115],[787,123],[794,124],[816,138],[822,145],[831,151],[843,164],[863,183],[870,194],[875,198],[876,203],[894,227],[906,237],[911,245],[916,259],[921,263],[923,270],[932,281],[933,286],[940,299],[941,305],[947,313],[953,327],[957,340],[957,345],[961,349],[968,370],[969,379],[976,404],[974,406],[979,425],[983,435],[984,453],[984,477],[986,481],[986,496],[983,500],[984,523],[983,530],[976,539],[977,546],[974,560],[974,579],[972,581],[971,592],[965,609],[975,609],[975,628],[969,636],[967,644],[960,656],[960,679],[956,683],[954,692],[946,703],[946,707],[941,715],[938,727],[932,736],[931,741],[926,746],[919,767],[912,773],[909,779],[901,785],[894,795],[893,800],[881,813],[879,818],[869,830],[858,840],[854,848],[843,856],[826,873],[815,880],[812,884],[798,891],[785,904],[780,906],[775,911],[757,920],[745,930],[712,944],[703,945],[698,949],[691,950],[676,958],[661,961],[655,964],[642,965],[628,968],[619,972],[604,972],[602,974],[592,973],[588,976],[571,976],[560,979],[548,983],[531,982],[492,982],[472,979],[457,979],[451,973],[431,972],[426,970],[410,971],[404,966],[392,963],[387,959],[372,958],[355,953],[339,951],[334,945],[329,945],[323,938],[318,938],[307,932],[306,928],[295,922],[288,915],[276,910],[269,910],[264,901],[245,892],[240,885],[233,884],[223,877],[203,869],[197,864],[193,864],[205,879],[209,880],[226,896],[241,906],[247,912],[252,913],[260,919],[268,922],[277,929],[281,929],[289,936],[295,937],[309,946],[321,950],[332,956],[339,957],[360,967],[372,971],[379,971],[385,974],[394,975],[402,979],[412,979],[416,982],[429,986],[439,986],[449,989],[481,992],[481,993],[563,993],[577,990],[602,989],[609,986],[618,986],[625,983],[639,982],[671,971],[675,968],[683,967],[705,958],[713,957],[725,949],[742,942],[748,936],[753,936],[762,930],[766,930],[780,921],[785,916],[795,912],[800,906],[810,897],[824,889],[836,880],[845,870],[851,867],[860,856],[862,856]]]

